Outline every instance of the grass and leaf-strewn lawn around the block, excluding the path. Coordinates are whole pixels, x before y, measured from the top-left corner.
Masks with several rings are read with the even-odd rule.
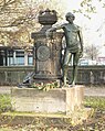
[[[0,125],[0,131],[105,131],[105,97],[85,97],[84,106],[94,108],[94,114],[81,125],[62,123],[60,125],[45,125],[41,122],[28,125]],[[11,99],[9,95],[0,95],[0,113],[11,110]]]

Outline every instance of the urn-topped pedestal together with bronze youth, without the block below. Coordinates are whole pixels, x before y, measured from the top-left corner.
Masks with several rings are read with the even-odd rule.
[[[33,32],[33,62],[35,70],[28,75],[23,84],[46,85],[55,83],[59,87],[73,87],[76,83],[77,64],[83,53],[83,36],[81,28],[73,23],[75,17],[71,12],[65,15],[66,23],[52,26],[56,21],[56,11],[49,9],[39,12],[39,23],[42,29]],[[62,29],[63,32],[56,32]],[[62,39],[65,37],[64,56],[62,55]],[[73,73],[67,81],[69,63],[73,56]],[[70,85],[70,86],[69,86]]]

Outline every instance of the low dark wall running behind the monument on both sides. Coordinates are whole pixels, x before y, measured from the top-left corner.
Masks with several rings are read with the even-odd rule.
[[[31,72],[34,72],[34,66],[0,66],[0,85],[18,85]],[[69,70],[70,80],[72,79],[71,74],[72,67]],[[77,84],[104,85],[105,66],[80,66]]]

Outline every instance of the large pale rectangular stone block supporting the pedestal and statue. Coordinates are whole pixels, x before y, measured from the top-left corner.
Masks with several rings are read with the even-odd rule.
[[[83,86],[55,88],[49,91],[35,88],[12,88],[14,111],[69,114],[83,108]]]

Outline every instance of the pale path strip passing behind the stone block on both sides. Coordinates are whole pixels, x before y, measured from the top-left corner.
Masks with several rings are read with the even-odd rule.
[[[10,94],[12,86],[0,86],[0,94]],[[85,96],[97,96],[105,97],[105,86],[104,87],[85,87]]]

